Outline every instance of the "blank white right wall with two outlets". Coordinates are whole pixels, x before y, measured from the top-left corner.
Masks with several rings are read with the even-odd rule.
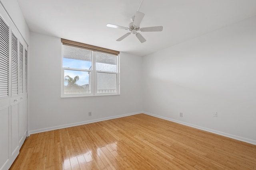
[[[256,17],[143,57],[142,75],[146,113],[256,144]]]

